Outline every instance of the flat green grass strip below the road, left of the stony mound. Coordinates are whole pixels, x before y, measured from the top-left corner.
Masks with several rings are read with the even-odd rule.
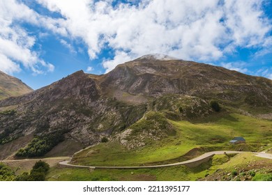
[[[174,180],[197,180],[206,174],[206,169],[210,167],[210,163],[190,169],[186,166],[172,166],[156,169],[71,169],[59,168],[55,166],[50,169],[47,180],[61,181],[114,181],[114,180],[158,180],[158,181],[174,181]]]

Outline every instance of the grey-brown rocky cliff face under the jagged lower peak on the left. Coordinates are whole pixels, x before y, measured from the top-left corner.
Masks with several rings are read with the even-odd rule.
[[[133,107],[102,97],[96,82],[82,71],[33,93],[2,100],[0,107],[2,145],[34,134],[42,139],[64,136],[89,146],[135,123],[145,111],[140,105]]]

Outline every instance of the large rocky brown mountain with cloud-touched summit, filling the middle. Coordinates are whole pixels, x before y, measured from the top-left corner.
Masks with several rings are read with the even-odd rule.
[[[78,71],[0,101],[0,159],[73,155],[108,140],[140,148],[176,134],[169,120],[216,116],[211,100],[225,111],[270,116],[272,81],[161,54],[105,75]]]

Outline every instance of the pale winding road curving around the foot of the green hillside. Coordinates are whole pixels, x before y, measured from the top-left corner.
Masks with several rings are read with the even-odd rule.
[[[69,164],[70,161],[62,161],[59,162],[59,164],[63,166],[71,166],[71,167],[77,167],[77,168],[89,168],[89,169],[145,169],[145,168],[159,168],[159,167],[167,167],[167,166],[177,166],[177,165],[186,165],[186,164],[192,164],[194,162],[200,162],[203,159],[211,158],[213,155],[222,155],[222,154],[237,154],[237,153],[248,153],[248,152],[241,152],[241,151],[213,151],[209,153],[204,153],[203,155],[200,155],[199,157],[195,157],[194,159],[189,159],[183,162],[176,162],[172,164],[161,164],[161,165],[151,165],[151,166],[83,166],[83,165],[75,165],[75,164]],[[272,159],[271,154],[267,153],[255,153],[257,157],[264,157],[268,159]]]

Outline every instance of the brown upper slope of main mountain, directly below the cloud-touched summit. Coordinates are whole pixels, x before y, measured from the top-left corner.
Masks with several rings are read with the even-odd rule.
[[[153,98],[183,94],[248,104],[250,107],[271,108],[272,105],[270,79],[191,61],[139,58],[118,65],[103,77],[101,86],[105,91],[111,86],[133,95]]]

